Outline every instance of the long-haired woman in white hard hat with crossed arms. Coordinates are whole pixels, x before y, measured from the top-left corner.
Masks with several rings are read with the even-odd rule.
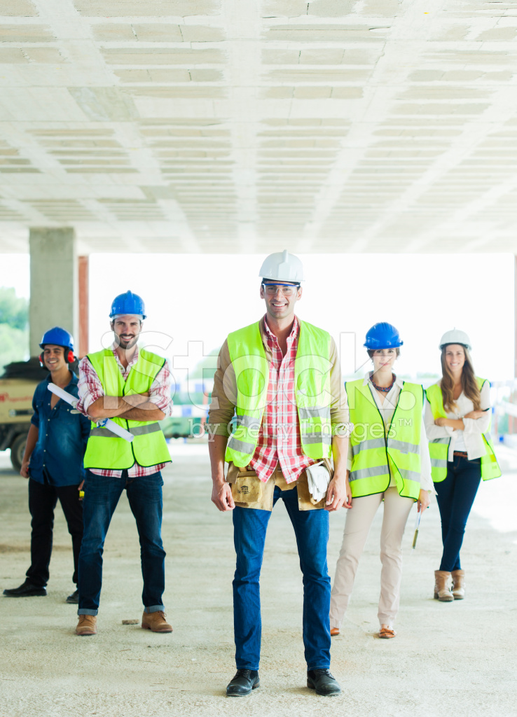
[[[460,548],[480,479],[498,478],[501,470],[490,440],[490,384],[475,376],[470,338],[465,331],[447,331],[440,350],[442,379],[426,391],[425,429],[442,520],[435,598],[452,602],[465,597]]]

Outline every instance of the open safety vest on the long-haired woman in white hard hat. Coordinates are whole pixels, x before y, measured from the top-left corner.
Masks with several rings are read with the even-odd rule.
[[[480,379],[476,376],[479,389],[481,390],[486,379]],[[433,384],[426,389],[425,394],[430,403],[432,417],[447,418],[445,408],[443,407],[443,394],[440,384]],[[493,443],[490,438],[490,425],[485,433],[482,434],[485,445],[485,455],[481,456],[481,478],[490,480],[490,478],[499,478],[501,468],[498,465],[495,453],[493,452]],[[431,458],[431,475],[435,483],[441,483],[447,478],[447,458],[449,455],[449,438],[435,438],[429,442],[429,455]]]

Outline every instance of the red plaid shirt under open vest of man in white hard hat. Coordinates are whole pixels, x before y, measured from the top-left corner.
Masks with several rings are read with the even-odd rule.
[[[272,352],[269,384],[267,386],[267,405],[262,416],[262,424],[257,447],[251,460],[251,466],[264,483],[275,471],[277,463],[286,483],[293,483],[309,465],[316,460],[304,455],[300,439],[300,422],[295,397],[295,356],[298,348],[300,324],[295,317],[293,328],[288,336],[288,350],[282,355],[278,338],[264,320],[267,348]]]

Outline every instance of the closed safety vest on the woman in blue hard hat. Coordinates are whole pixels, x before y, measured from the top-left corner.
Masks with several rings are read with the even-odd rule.
[[[389,427],[371,395],[369,384],[346,381],[350,421],[349,476],[352,498],[384,493],[392,475],[399,495],[417,500],[420,493],[420,431],[424,389],[404,381]]]

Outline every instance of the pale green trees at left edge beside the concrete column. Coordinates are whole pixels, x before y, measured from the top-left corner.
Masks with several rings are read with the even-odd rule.
[[[12,361],[29,358],[29,302],[0,287],[0,374]]]

